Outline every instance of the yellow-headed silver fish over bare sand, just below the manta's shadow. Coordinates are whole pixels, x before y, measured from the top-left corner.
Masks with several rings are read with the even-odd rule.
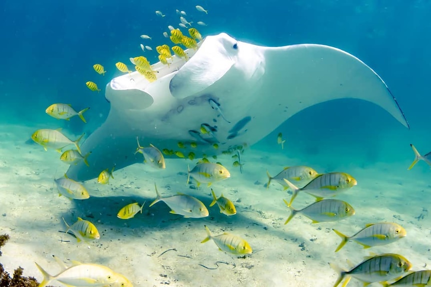
[[[235,255],[246,255],[253,252],[250,245],[238,236],[229,234],[227,232],[217,236],[212,236],[206,225],[205,231],[207,236],[200,243],[205,243],[208,240],[212,239],[212,241],[221,251],[232,253]]]

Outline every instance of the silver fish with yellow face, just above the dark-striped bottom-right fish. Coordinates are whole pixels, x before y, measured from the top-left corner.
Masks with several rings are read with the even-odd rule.
[[[349,240],[357,242],[364,248],[369,248],[389,244],[406,236],[405,229],[400,225],[387,222],[368,224],[365,228],[350,237],[347,237],[336,230],[333,231],[342,239],[335,252],[340,250]]]

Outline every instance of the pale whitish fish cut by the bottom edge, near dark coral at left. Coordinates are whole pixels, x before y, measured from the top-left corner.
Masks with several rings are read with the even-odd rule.
[[[102,265],[75,263],[55,276],[49,275],[37,263],[36,266],[44,278],[39,287],[45,287],[51,281],[70,287],[133,287],[124,276]]]

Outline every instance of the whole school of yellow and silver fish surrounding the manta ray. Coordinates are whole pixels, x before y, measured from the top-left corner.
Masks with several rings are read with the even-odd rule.
[[[195,6],[196,10],[207,13],[202,6]],[[161,11],[155,11],[156,15],[164,17]],[[167,44],[158,45],[155,47],[158,53],[159,61],[169,66],[172,60],[172,53],[179,58],[183,58],[184,61],[188,60],[186,50],[184,51],[179,45],[184,46],[186,49],[197,49],[198,42],[201,41],[202,36],[199,31],[190,27],[191,22],[188,22],[184,16],[184,11],[176,10],[176,13],[180,16],[179,26],[187,28],[187,32],[190,37],[184,35],[179,28],[168,26],[170,35],[167,32],[163,32],[163,35],[170,39],[174,46],[169,47]],[[206,25],[205,23],[198,21],[199,25]],[[148,35],[140,35],[142,39],[150,40],[151,37]],[[144,46],[141,44],[142,51],[152,50],[150,46]],[[151,64],[144,56],[130,57],[130,62],[134,65],[135,70],[141,74],[149,82],[157,80],[156,71],[152,69]],[[131,73],[127,65],[123,62],[118,61],[115,64],[116,68],[123,73]],[[96,63],[93,65],[93,69],[99,74],[104,76],[106,70],[104,67]],[[97,87],[97,84],[93,81],[87,81],[86,86],[91,91],[101,91]],[[86,112],[89,107],[84,108],[80,111],[75,111],[71,105],[54,103],[46,108],[45,112],[56,118],[62,120],[70,120],[74,116],[78,116],[84,123],[86,123],[83,113]],[[200,128],[201,135],[210,135],[211,127],[202,124]],[[77,164],[79,161],[83,161],[87,166],[88,157],[90,153],[85,155],[81,154],[79,148],[79,141],[83,135],[79,136],[76,140],[69,139],[60,129],[39,129],[36,130],[31,138],[36,143],[40,144],[45,150],[52,148],[61,153],[60,160],[66,164]],[[141,153],[143,156],[143,162],[148,164],[154,169],[162,170],[165,168],[164,155],[172,156],[175,155],[178,158],[184,158],[186,160],[194,161],[199,158],[197,163],[192,169],[188,168],[187,184],[190,182],[190,177],[196,182],[197,187],[201,183],[207,184],[209,187],[212,183],[228,179],[230,173],[226,167],[220,162],[210,162],[208,157],[216,160],[215,155],[198,155],[196,156],[193,149],[197,147],[197,143],[191,142],[178,142],[178,150],[169,150],[162,148],[161,151],[149,143],[148,146],[140,146],[138,138],[137,148],[135,153]],[[282,138],[282,134],[278,133],[276,142],[280,145],[281,149],[284,149],[284,143],[286,142]],[[74,149],[68,149],[63,151],[64,148],[73,145]],[[214,143],[214,150],[218,149],[218,144]],[[224,155],[231,155],[233,160],[232,166],[239,167],[242,173],[242,166],[240,155],[243,153],[247,144],[231,147],[228,150],[222,151]],[[415,159],[408,169],[411,169],[419,160],[425,161],[431,166],[431,153],[421,156],[415,147],[411,145],[415,154]],[[114,179],[113,171],[115,166],[106,167],[106,169],[100,171],[97,178],[97,183],[105,185],[109,184],[109,179]],[[276,176],[271,177],[269,172],[266,171],[268,182],[266,188],[269,188],[272,181],[280,184],[284,190],[290,190],[292,196],[289,202],[286,200],[284,204],[289,210],[289,216],[284,224],[290,222],[295,215],[300,214],[310,219],[312,223],[320,222],[335,222],[339,220],[347,219],[355,214],[354,208],[347,202],[333,199],[332,197],[338,195],[341,192],[350,190],[357,184],[354,177],[343,172],[331,172],[319,174],[314,169],[307,166],[291,166],[283,168]],[[90,197],[89,192],[83,186],[82,183],[76,182],[72,179],[64,177],[54,180],[54,183],[58,189],[59,196],[64,196],[69,199],[85,200]],[[219,212],[226,216],[233,216],[236,214],[236,208],[232,201],[220,194],[217,198],[215,192],[211,189],[212,202],[209,207],[217,204]],[[186,194],[175,194],[171,196],[162,197],[157,190],[156,184],[154,183],[155,200],[149,205],[152,207],[158,202],[164,202],[169,208],[171,214],[181,215],[184,218],[204,218],[209,215],[208,209],[198,199],[186,195]],[[292,203],[298,194],[308,194],[315,198],[315,202],[303,207],[302,209],[294,209]],[[144,203],[141,205],[137,202],[127,204],[123,206],[117,213],[117,217],[121,220],[132,219],[138,213],[142,213]],[[77,221],[71,225],[66,223],[65,233],[68,233],[76,238],[79,242],[91,242],[100,239],[100,234],[96,226],[80,217],[77,217]],[[203,226],[206,232],[206,237],[201,241],[205,243],[212,239],[219,250],[227,252],[236,256],[245,256],[252,254],[252,248],[248,242],[244,239],[229,233],[223,233],[213,236],[209,228]],[[202,229],[203,230],[203,229]],[[333,232],[341,238],[339,246],[335,252],[338,252],[346,243],[352,241],[361,245],[363,248],[370,248],[379,245],[386,245],[395,242],[406,236],[406,231],[400,225],[389,222],[380,222],[374,224],[368,224],[363,229],[357,231],[355,234],[347,236],[341,232],[333,229]],[[70,267],[64,266],[64,264],[55,258],[55,261],[61,266],[62,271],[55,276],[48,274],[42,269],[37,263],[36,266],[42,273],[44,279],[39,287],[44,287],[51,281],[60,282],[70,287],[84,287],[84,286],[112,286],[112,287],[131,287],[132,283],[123,275],[118,274],[109,268],[97,264],[82,264],[79,262],[72,262]],[[345,287],[350,278],[355,278],[362,281],[364,286],[380,282],[383,286],[431,286],[431,271],[423,270],[417,272],[407,273],[411,269],[411,263],[401,255],[398,254],[380,254],[365,258],[365,260],[350,270],[342,270],[334,264],[330,264],[338,273],[338,279],[333,285],[338,286],[343,280],[342,287]],[[389,283],[389,281],[394,282]]]

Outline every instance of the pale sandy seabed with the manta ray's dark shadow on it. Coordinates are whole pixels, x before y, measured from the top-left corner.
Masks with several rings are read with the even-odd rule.
[[[234,202],[237,214],[227,217],[216,205],[209,207],[209,188],[185,185],[190,161],[183,159],[167,159],[162,171],[150,170],[144,164],[114,171],[109,185],[87,181],[84,185],[91,196],[87,200],[58,197],[53,179],[61,177],[67,165],[55,151],[25,144],[38,128],[42,127],[0,126],[0,234],[10,236],[0,260],[8,272],[21,266],[25,276],[41,281],[34,262],[56,274],[60,268],[52,258],[55,255],[66,263],[75,260],[105,265],[126,276],[135,287],[331,287],[337,275],[329,262],[347,269],[347,259],[357,264],[370,252],[401,254],[415,271],[430,264],[427,208],[431,186],[426,182],[429,176],[421,172],[427,170],[423,162],[409,172],[406,167],[410,161],[329,168],[318,157],[303,162],[287,158],[281,149],[274,153],[251,148],[242,156],[244,170],[240,174],[231,166],[230,156],[220,156],[220,162],[228,163],[225,166],[231,178],[211,187],[217,196],[223,193]],[[358,185],[336,198],[350,203],[356,214],[339,222],[318,224],[299,215],[284,225],[289,212],[282,199],[288,200],[290,195],[276,182],[265,188],[266,170],[274,176],[284,166],[301,164],[318,172],[342,171],[355,177]],[[181,192],[198,198],[208,208],[209,217],[186,219],[169,214],[162,202],[148,208],[155,199],[154,182],[162,196]],[[144,201],[142,214],[126,221],[116,217],[124,205]],[[293,207],[300,209],[312,202],[313,197],[299,194]],[[77,217],[91,221],[100,239],[77,244],[73,237],[58,232],[65,230],[62,217],[69,224]],[[407,237],[368,250],[350,242],[334,253],[340,239],[332,228],[352,235],[365,224],[377,222],[398,223],[406,229]],[[236,258],[220,252],[212,241],[201,244],[206,237],[204,225],[213,235],[229,232],[244,238],[254,253]],[[362,283],[352,279],[348,286]]]

